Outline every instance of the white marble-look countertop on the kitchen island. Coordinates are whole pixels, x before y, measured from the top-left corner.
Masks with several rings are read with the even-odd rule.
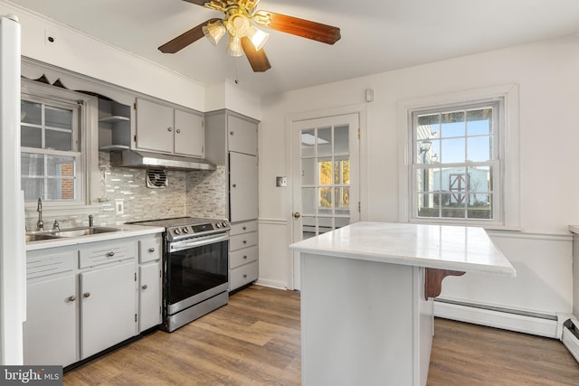
[[[517,276],[487,232],[478,227],[356,222],[289,248],[345,259]]]

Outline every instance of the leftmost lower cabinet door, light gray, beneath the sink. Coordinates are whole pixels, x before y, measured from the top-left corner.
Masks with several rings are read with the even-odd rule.
[[[70,275],[28,285],[24,364],[67,366],[80,359],[75,278]]]

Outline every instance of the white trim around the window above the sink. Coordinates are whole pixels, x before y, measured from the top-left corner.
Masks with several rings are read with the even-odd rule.
[[[81,181],[83,198],[81,202],[43,202],[43,215],[47,220],[55,216],[69,216],[75,214],[90,214],[98,211],[99,178],[99,106],[98,99],[69,89],[57,89],[55,86],[45,85],[34,80],[22,80],[22,93],[38,98],[70,99],[81,101],[80,135],[81,135],[81,167],[77,177]],[[37,203],[26,202],[24,211],[26,217],[34,217]],[[44,223],[47,223],[47,220]]]

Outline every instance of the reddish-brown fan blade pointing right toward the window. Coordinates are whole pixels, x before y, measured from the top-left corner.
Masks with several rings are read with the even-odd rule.
[[[291,33],[327,44],[334,44],[341,38],[340,29],[331,25],[310,22],[309,20],[299,19],[286,14],[276,14],[270,11],[258,11],[257,13],[260,15],[267,14],[271,20],[270,24],[261,25],[282,33]],[[260,18],[254,20],[259,23]]]

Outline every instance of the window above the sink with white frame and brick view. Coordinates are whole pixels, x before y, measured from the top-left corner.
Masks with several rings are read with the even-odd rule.
[[[98,102],[79,92],[22,80],[21,184],[27,210],[75,211],[90,204],[98,170]],[[93,146],[90,146],[93,144]],[[98,182],[96,182],[98,184]]]

